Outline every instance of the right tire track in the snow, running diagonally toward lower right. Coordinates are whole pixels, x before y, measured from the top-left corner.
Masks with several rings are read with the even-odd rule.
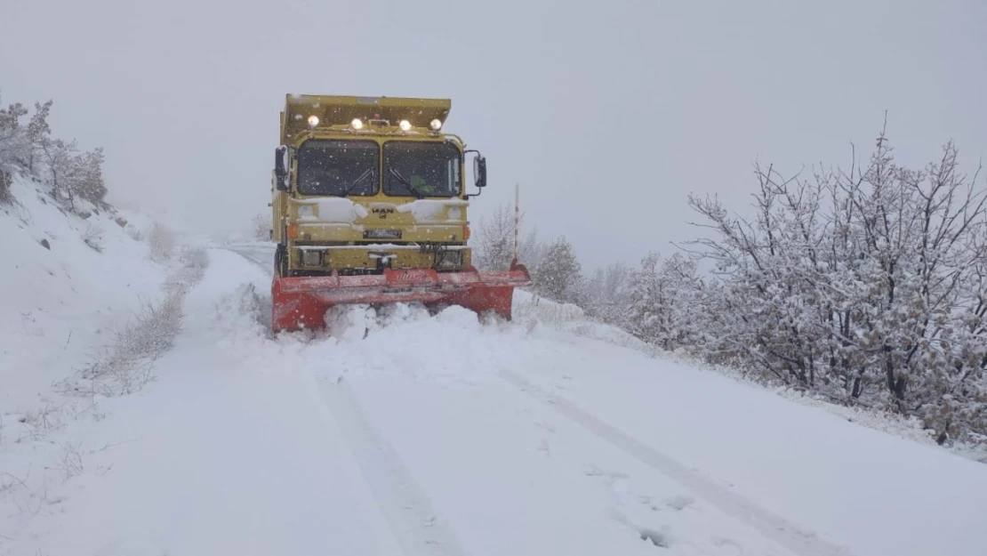
[[[721,487],[638,438],[593,416],[566,398],[548,393],[516,372],[501,369],[497,375],[522,392],[552,407],[589,433],[678,482],[723,514],[746,523],[794,553],[801,556],[852,556],[849,549],[823,540],[814,532],[805,531],[784,517],[776,516],[757,506],[753,501]]]

